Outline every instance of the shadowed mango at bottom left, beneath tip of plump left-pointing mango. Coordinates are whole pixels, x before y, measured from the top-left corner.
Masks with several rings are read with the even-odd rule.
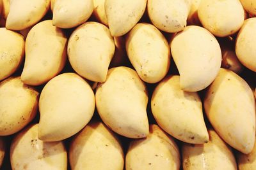
[[[13,138],[10,149],[12,169],[66,170],[67,151],[63,142],[44,142],[37,134],[38,124],[35,124]]]

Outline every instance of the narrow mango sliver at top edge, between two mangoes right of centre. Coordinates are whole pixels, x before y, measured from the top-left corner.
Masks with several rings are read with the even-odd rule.
[[[188,24],[189,25],[201,25],[201,22],[198,18],[198,6],[202,0],[191,0],[191,8],[188,15]]]

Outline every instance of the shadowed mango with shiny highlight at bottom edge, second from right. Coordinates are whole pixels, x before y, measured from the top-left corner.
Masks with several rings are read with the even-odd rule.
[[[236,159],[216,132],[209,130],[210,140],[203,145],[183,143],[182,164],[184,170],[237,170]]]

